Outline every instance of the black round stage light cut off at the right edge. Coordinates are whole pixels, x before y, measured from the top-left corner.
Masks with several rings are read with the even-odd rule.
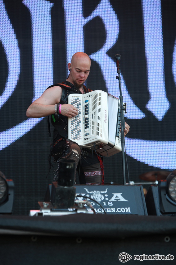
[[[166,180],[158,183],[160,211],[162,214],[176,214],[176,170]]]

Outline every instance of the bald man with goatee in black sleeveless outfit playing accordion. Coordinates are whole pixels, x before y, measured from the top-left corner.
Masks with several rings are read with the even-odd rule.
[[[77,52],[73,55],[71,63],[68,64],[70,71],[66,81],[48,87],[41,97],[35,100],[27,109],[26,116],[41,118],[51,116],[54,126],[52,156],[59,164],[60,159],[68,158],[79,166],[80,184],[102,184],[103,163],[101,157],[87,149],[81,149],[75,142],[68,140],[68,117],[78,115],[78,110],[68,104],[68,95],[73,93],[85,94],[92,90],[84,85],[90,72],[91,60],[84,52]],[[124,135],[129,132],[129,125],[125,123]],[[80,159],[82,158],[82,159]],[[57,173],[58,174],[58,173]],[[56,178],[58,179],[58,175]]]

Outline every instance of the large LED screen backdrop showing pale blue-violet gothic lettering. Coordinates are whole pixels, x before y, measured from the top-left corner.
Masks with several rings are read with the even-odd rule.
[[[121,55],[130,180],[176,168],[175,14],[174,0],[0,0],[0,170],[15,183],[14,214],[38,209],[53,179],[47,117],[27,118],[26,109],[66,79],[77,51],[92,61],[86,85],[116,97]],[[106,183],[123,183],[121,154],[104,167]]]

